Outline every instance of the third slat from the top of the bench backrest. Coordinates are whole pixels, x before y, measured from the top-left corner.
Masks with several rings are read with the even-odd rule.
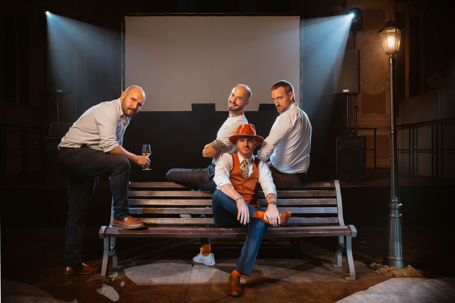
[[[267,200],[260,199],[259,206],[267,207]],[[144,206],[212,206],[212,199],[128,199],[130,205],[144,205]],[[278,199],[277,205],[336,205],[335,198],[322,198],[322,199]]]

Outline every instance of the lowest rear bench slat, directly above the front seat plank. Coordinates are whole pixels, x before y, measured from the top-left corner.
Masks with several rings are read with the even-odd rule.
[[[136,218],[152,225],[214,225],[213,218]],[[289,225],[292,224],[337,224],[337,217],[322,217],[322,218],[298,218],[291,217],[288,220]]]

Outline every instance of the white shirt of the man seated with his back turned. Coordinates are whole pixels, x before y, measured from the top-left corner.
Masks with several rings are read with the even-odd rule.
[[[270,157],[282,173],[304,173],[310,163],[311,124],[307,114],[293,103],[273,123],[270,134],[258,151],[260,160]]]

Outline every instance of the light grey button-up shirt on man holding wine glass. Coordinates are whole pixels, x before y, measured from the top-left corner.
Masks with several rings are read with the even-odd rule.
[[[92,149],[109,152],[123,143],[123,134],[131,117],[121,109],[120,99],[103,102],[87,109],[71,126],[58,146],[79,148],[87,145]]]

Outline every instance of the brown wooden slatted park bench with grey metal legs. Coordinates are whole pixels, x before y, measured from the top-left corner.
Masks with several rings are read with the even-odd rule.
[[[356,237],[354,225],[345,225],[338,180],[309,182],[300,187],[277,192],[279,211],[291,209],[286,226],[268,228],[266,238],[338,237],[335,267],[341,266],[342,253],[347,254],[346,279],[355,279],[351,237]],[[130,214],[147,223],[146,228],[123,229],[102,226],[104,239],[101,281],[108,281],[109,257],[113,268],[119,268],[116,238],[245,238],[244,228],[217,228],[212,214],[212,192],[191,191],[170,182],[132,182],[128,196]],[[267,207],[263,192],[259,205]],[[206,214],[207,218],[180,218],[180,214]],[[207,226],[208,225],[208,226]]]

